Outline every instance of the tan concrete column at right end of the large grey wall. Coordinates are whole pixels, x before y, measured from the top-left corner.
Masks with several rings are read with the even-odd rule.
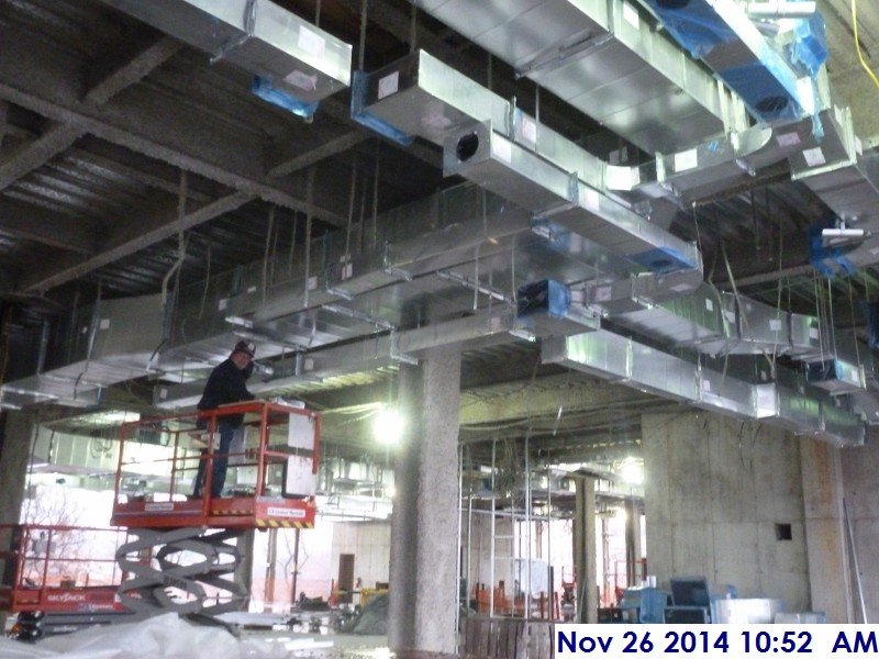
[[[800,439],[805,543],[812,610],[831,623],[855,623],[848,541],[843,514],[839,449],[815,439]]]

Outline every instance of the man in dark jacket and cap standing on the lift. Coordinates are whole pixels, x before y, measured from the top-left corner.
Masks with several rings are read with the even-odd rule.
[[[247,378],[253,372],[253,359],[256,354],[254,344],[240,340],[232,349],[229,359],[211,371],[208,383],[198,405],[199,410],[213,410],[220,405],[254,400],[254,394],[247,391]],[[222,414],[216,417],[216,431],[220,434],[220,445],[214,450],[213,468],[211,469],[211,496],[218,498],[223,492],[226,481],[226,467],[229,465],[229,450],[236,432],[242,432],[244,414]],[[207,428],[207,420],[199,420],[197,427]],[[199,470],[196,474],[194,498],[202,495],[204,484],[205,456],[208,449],[202,449],[199,460]]]

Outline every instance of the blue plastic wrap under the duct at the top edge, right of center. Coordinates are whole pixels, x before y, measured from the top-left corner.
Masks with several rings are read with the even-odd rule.
[[[705,0],[646,0],[671,36],[693,57],[738,38]],[[675,7],[679,4],[680,7]]]

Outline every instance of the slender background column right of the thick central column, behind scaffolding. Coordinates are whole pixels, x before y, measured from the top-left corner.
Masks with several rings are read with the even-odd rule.
[[[596,479],[575,481],[574,571],[577,576],[578,623],[598,623],[598,547],[596,546]]]

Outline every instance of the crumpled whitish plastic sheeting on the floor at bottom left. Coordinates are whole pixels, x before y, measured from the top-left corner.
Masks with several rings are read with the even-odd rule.
[[[35,644],[0,638],[0,657],[31,659],[280,659],[301,656],[307,639],[235,638],[221,627],[201,627],[168,613],[141,623],[92,627]]]

